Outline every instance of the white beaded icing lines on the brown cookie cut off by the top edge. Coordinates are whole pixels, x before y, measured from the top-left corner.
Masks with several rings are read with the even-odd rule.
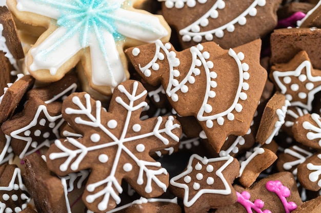
[[[170,2],[167,0],[166,2]],[[175,5],[171,3],[167,3],[167,5]],[[181,5],[181,4],[179,4]],[[229,21],[228,23],[225,23],[224,25],[215,28],[210,29],[207,31],[202,31],[202,28],[208,27],[210,20],[209,19],[217,19],[219,18],[219,10],[225,9],[225,2],[223,0],[218,0],[215,2],[215,4],[212,6],[212,8],[205,13],[202,17],[200,17],[198,20],[193,22],[188,27],[182,29],[179,31],[179,34],[182,35],[183,41],[189,42],[201,42],[203,40],[203,37],[207,41],[213,40],[214,36],[217,38],[222,38],[224,36],[224,31],[227,31],[229,33],[234,32],[235,25],[246,25],[247,18],[246,16],[256,16],[257,9],[256,6],[264,7],[266,5],[266,0],[255,0],[245,11],[243,11],[241,14],[239,14],[237,17],[235,17],[233,20]]]

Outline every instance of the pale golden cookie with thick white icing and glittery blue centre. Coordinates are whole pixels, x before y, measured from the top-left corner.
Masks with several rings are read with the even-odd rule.
[[[170,37],[162,16],[134,9],[134,3],[8,1],[9,10],[20,22],[46,29],[27,53],[26,71],[37,80],[53,82],[79,63],[86,72],[82,80],[110,95],[117,84],[129,78],[124,46]]]

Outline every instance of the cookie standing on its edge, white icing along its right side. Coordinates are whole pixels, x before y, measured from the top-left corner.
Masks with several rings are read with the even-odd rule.
[[[256,133],[256,141],[260,144],[270,144],[285,123],[285,116],[290,102],[282,93],[276,92],[264,108],[262,118]]]

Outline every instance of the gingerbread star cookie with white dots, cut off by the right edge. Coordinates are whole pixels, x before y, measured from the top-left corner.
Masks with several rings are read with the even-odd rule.
[[[291,106],[312,110],[314,95],[321,90],[321,70],[314,69],[306,51],[300,51],[289,62],[271,67],[270,77]]]

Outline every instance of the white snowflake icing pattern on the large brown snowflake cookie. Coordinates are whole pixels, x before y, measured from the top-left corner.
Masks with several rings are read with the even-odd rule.
[[[81,102],[81,100],[78,97],[75,96],[73,97],[72,102],[78,108],[74,109],[69,107],[65,109],[65,112],[67,114],[85,114],[88,117],[88,120],[83,120],[81,119],[81,117],[76,117],[75,123],[99,128],[99,131],[101,131],[102,133],[105,133],[113,141],[105,144],[98,144],[90,147],[85,147],[83,144],[79,143],[79,141],[77,141],[77,139],[75,138],[67,138],[64,143],[62,143],[60,140],[55,140],[55,145],[57,146],[57,148],[61,149],[63,152],[51,153],[49,155],[49,158],[50,160],[54,160],[62,157],[66,158],[64,163],[62,163],[59,166],[59,169],[61,171],[66,171],[69,167],[71,170],[76,171],[79,168],[79,164],[81,164],[82,160],[85,158],[88,152],[107,148],[107,147],[112,147],[112,146],[117,147],[116,154],[115,156],[113,156],[113,165],[109,176],[99,182],[90,183],[86,186],[87,191],[93,192],[97,187],[101,187],[102,185],[105,185],[101,191],[88,195],[85,198],[88,203],[92,203],[94,200],[101,197],[102,194],[103,195],[108,194],[111,198],[115,200],[117,204],[121,202],[121,198],[117,195],[115,190],[118,193],[122,193],[123,189],[121,187],[121,183],[118,183],[118,181],[116,180],[115,175],[117,173],[118,164],[120,163],[119,161],[121,160],[121,155],[123,152],[125,152],[128,155],[128,157],[130,157],[132,161],[134,161],[140,168],[136,182],[137,184],[142,185],[144,183],[144,179],[146,179],[147,182],[145,186],[145,191],[147,193],[150,193],[152,191],[152,186],[151,186],[152,181],[154,181],[160,188],[162,188],[164,192],[167,190],[166,184],[160,181],[156,177],[156,175],[159,175],[159,174],[167,174],[166,169],[162,168],[159,162],[149,162],[149,161],[139,159],[135,154],[133,154],[132,151],[134,150],[131,151],[129,148],[127,148],[126,143],[130,143],[131,141],[139,141],[140,139],[150,137],[150,136],[155,136],[160,141],[162,141],[162,143],[164,143],[165,145],[168,145],[169,140],[163,136],[164,134],[166,134],[167,137],[178,142],[179,137],[176,136],[174,133],[172,133],[172,130],[179,128],[180,126],[178,124],[173,124],[174,118],[173,116],[169,116],[168,120],[165,123],[165,128],[160,129],[159,127],[160,127],[160,124],[162,124],[163,122],[163,117],[159,116],[157,117],[157,123],[151,132],[141,134],[141,135],[126,137],[127,131],[129,131],[129,124],[131,121],[132,112],[138,109],[141,109],[147,105],[145,101],[140,102],[138,104],[135,103],[135,101],[139,100],[140,98],[142,98],[147,94],[147,90],[143,90],[141,93],[136,93],[137,88],[138,88],[137,81],[133,83],[133,88],[131,93],[129,93],[129,91],[127,91],[123,85],[118,85],[118,90],[124,93],[126,98],[129,100],[129,104],[127,104],[121,97],[116,97],[115,99],[115,101],[118,104],[122,105],[124,108],[127,109],[127,116],[126,116],[126,120],[124,121],[125,125],[123,128],[122,134],[119,138],[117,138],[111,131],[109,131],[108,128],[110,128],[110,126],[108,124],[107,124],[108,128],[106,128],[104,124],[101,123],[102,104],[100,101],[96,101],[96,109],[95,109],[95,112],[93,112],[92,114],[89,94],[84,95],[84,98],[86,100],[85,105]],[[134,103],[136,105],[134,105]],[[66,148],[64,144],[68,142],[71,143],[77,149],[70,150]],[[136,147],[136,151],[138,152],[147,151],[145,150],[145,146],[144,145],[141,146],[141,145],[143,144],[138,144],[138,146]],[[104,159],[106,159],[106,156],[104,156]],[[132,168],[133,168],[133,165],[131,163],[124,163],[121,166],[125,172],[130,172],[132,171]],[[147,166],[153,166],[159,169],[150,170],[147,168]],[[104,198],[102,199],[101,202],[99,202],[97,206],[99,210],[103,211],[107,208],[109,196],[103,196]]]

